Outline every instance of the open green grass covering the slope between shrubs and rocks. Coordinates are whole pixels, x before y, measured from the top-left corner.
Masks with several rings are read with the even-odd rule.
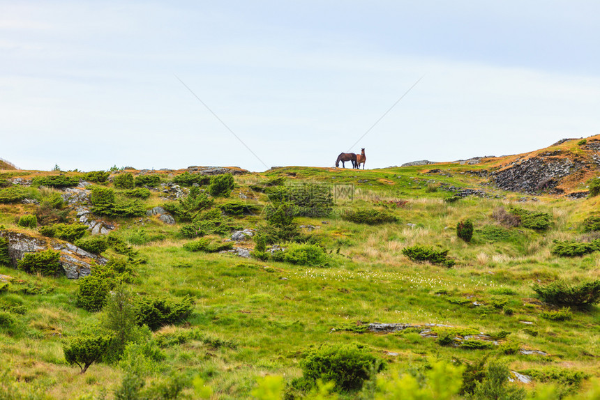
[[[444,172],[449,170],[450,177],[423,174],[430,169],[426,167],[364,171],[286,167],[261,176],[236,177],[234,196],[248,193],[259,208],[266,205],[267,197],[248,186],[278,176],[290,184],[292,178],[287,176],[294,173],[294,183],[316,180],[354,185],[354,199],[343,203],[343,209],[384,209],[397,218],[397,222],[377,226],[354,224],[343,220],[338,212],[342,206],[336,206],[329,217],[294,219],[297,224],[317,226],[313,231],[303,231],[317,237],[331,253],[329,268],[188,252],[183,244],[189,240],[178,235],[181,224],[169,226],[156,217],[109,219],[118,226],[115,233],[147,259],[147,263],[134,267],[129,285],[133,293],[176,298],[190,295],[195,300],[186,324],[154,333],[156,337],[183,335],[185,339],[177,346],[165,346],[167,359],[160,364],[164,374],[150,376],[149,383],[160,381],[170,371],[179,371],[203,378],[220,399],[243,399],[250,397],[256,379],[265,374],[285,376],[286,382],[299,377],[304,352],[320,344],[357,342],[400,367],[422,365],[428,357],[473,361],[500,351],[500,346],[485,348],[477,343],[469,349],[440,346],[436,339],[423,338],[419,332],[331,332],[332,328],[357,325],[359,321],[451,325],[437,333],[506,331],[510,332],[508,336],[498,339],[501,344],[518,342],[521,348],[548,353],[502,355],[512,369],[543,370],[548,365],[569,363],[599,377],[598,306],[583,311],[571,309],[569,319],[557,321],[546,318],[550,311],[532,290],[534,282],[599,278],[598,252],[573,258],[551,252],[553,240],[578,239],[580,224],[597,206],[596,200],[540,196],[539,201],[523,206],[515,202],[522,197],[520,194],[481,186],[481,178],[461,174],[479,166],[441,167]],[[367,181],[358,182],[364,179]],[[435,192],[428,190],[432,183],[438,185]],[[482,188],[493,198],[467,197],[445,203],[443,199],[451,192],[443,187],[449,185]],[[504,198],[494,198],[496,195]],[[407,203],[396,206],[389,202],[398,200]],[[224,201],[218,199],[216,205]],[[164,201],[159,193],[152,192],[143,203],[151,208]],[[498,206],[522,206],[549,213],[552,227],[544,232],[503,228],[490,217]],[[0,222],[13,228],[14,216],[24,214],[24,207],[2,205]],[[27,210],[31,213],[35,207],[27,206]],[[471,243],[456,237],[456,223],[467,218],[475,228]],[[262,221],[260,212],[235,219],[237,225],[250,229]],[[449,249],[456,265],[446,268],[414,263],[402,253],[403,248],[413,245]],[[245,246],[252,247],[252,241]],[[109,250],[107,255],[114,252]],[[79,376],[78,369],[64,360],[63,341],[103,316],[102,312],[89,313],[75,307],[76,281],[31,276],[8,267],[1,267],[0,274],[53,288],[50,293],[29,295],[18,292],[22,285],[11,284],[7,293],[0,294],[0,304],[6,300],[27,309],[24,314],[11,314],[15,323],[0,328],[0,362],[15,378],[43,385],[56,399],[96,394],[102,387],[111,391],[120,384],[125,371],[116,365],[95,364],[85,376]],[[503,311],[507,307],[513,310],[511,315]],[[532,331],[537,331],[537,336],[530,334]],[[186,332],[195,333],[186,336]],[[190,393],[188,386],[186,391]]]

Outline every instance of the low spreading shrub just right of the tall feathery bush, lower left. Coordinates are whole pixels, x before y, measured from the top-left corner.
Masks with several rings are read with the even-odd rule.
[[[137,324],[147,325],[151,330],[184,321],[192,312],[193,307],[194,301],[189,296],[174,300],[145,295],[140,296],[134,302]]]

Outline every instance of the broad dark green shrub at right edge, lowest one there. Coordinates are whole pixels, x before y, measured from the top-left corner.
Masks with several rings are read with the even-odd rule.
[[[541,300],[553,305],[585,307],[600,302],[600,279],[569,285],[562,280],[550,284],[534,284]]]

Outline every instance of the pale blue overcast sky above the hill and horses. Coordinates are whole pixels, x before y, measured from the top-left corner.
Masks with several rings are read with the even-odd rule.
[[[367,168],[532,151],[600,133],[599,15],[595,0],[0,0],[0,157],[264,171],[361,147]]]

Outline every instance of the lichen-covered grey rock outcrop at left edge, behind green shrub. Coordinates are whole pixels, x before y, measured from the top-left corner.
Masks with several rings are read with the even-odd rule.
[[[22,231],[0,231],[1,238],[8,239],[8,256],[17,268],[17,263],[27,253],[40,252],[48,249],[61,253],[61,266],[69,279],[77,279],[90,275],[93,264],[105,264],[107,259],[97,254],[86,252],[71,243],[57,238],[46,238],[36,233]]]

